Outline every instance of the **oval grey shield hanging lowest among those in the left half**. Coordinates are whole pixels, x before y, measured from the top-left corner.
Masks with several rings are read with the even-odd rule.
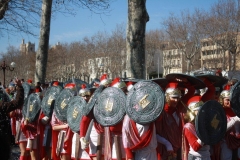
[[[86,106],[86,101],[80,97],[75,96],[70,99],[67,110],[67,123],[73,132],[79,132],[80,122],[83,117],[83,108]]]

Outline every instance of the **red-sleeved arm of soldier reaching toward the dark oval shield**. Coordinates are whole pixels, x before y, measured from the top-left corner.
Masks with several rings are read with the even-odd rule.
[[[193,148],[194,151],[197,152],[204,145],[203,142],[188,129],[184,129],[184,135],[187,138],[189,145]]]

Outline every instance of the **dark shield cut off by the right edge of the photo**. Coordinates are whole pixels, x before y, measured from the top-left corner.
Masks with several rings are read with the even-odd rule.
[[[230,102],[233,112],[240,117],[240,81],[230,90]]]

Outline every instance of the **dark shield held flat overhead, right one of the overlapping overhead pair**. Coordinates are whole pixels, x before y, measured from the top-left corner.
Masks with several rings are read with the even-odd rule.
[[[228,81],[224,77],[220,77],[212,74],[199,74],[199,75],[196,75],[196,77],[199,79],[207,78],[209,81],[213,82],[215,87],[221,87],[224,84],[226,84]]]

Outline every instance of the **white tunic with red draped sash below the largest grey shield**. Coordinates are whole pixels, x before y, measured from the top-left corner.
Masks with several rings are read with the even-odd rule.
[[[155,124],[135,123],[128,115],[124,117],[122,141],[127,159],[157,160],[157,138]]]

